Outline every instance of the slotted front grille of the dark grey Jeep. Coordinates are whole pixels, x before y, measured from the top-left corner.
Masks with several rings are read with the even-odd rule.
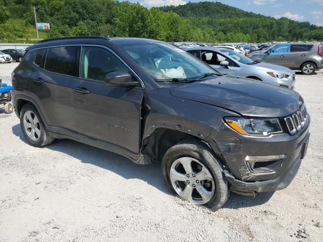
[[[303,105],[297,112],[293,113],[291,116],[285,117],[284,119],[289,132],[293,135],[307,125],[309,115],[305,105]]]

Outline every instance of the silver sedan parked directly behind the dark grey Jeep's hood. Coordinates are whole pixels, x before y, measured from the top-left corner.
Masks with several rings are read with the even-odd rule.
[[[273,85],[294,88],[295,72],[269,63],[259,63],[226,48],[184,48],[187,52],[201,59],[222,74],[231,74],[270,83]]]

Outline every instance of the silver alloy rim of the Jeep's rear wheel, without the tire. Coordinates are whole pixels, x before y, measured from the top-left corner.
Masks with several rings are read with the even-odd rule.
[[[24,129],[27,136],[32,141],[37,141],[40,137],[40,123],[38,117],[32,111],[28,110],[24,114]]]

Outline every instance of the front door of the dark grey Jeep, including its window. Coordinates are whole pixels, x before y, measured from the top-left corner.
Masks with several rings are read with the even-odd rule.
[[[82,46],[80,78],[73,83],[76,127],[83,135],[138,154],[144,89],[141,84],[134,88],[105,84],[105,75],[114,71],[137,79],[109,49]]]

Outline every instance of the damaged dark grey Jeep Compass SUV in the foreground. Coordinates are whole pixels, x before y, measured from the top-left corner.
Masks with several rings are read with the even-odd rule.
[[[310,117],[297,92],[219,74],[162,41],[43,40],[12,82],[30,145],[66,138],[138,164],[161,161],[173,194],[211,210],[230,189],[286,188],[306,154]]]

